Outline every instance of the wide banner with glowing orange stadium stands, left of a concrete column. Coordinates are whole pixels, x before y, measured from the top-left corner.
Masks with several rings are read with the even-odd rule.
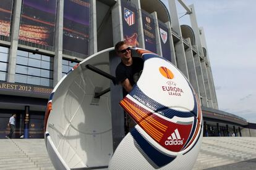
[[[19,39],[53,46],[55,20],[56,0],[23,0]]]

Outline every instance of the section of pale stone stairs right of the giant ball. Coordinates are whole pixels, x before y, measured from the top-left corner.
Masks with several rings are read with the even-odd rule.
[[[207,169],[256,158],[256,137],[203,137],[195,169]]]

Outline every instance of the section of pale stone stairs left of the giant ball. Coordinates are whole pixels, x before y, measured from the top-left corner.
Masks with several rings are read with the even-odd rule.
[[[0,169],[54,169],[43,139],[1,139]]]

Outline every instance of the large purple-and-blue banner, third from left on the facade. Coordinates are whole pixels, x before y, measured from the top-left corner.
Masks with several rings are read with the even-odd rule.
[[[88,55],[90,0],[64,0],[63,49]]]

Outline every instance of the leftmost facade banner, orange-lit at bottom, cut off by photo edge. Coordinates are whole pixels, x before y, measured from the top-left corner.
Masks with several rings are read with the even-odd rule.
[[[12,0],[0,1],[0,36],[10,36]]]

